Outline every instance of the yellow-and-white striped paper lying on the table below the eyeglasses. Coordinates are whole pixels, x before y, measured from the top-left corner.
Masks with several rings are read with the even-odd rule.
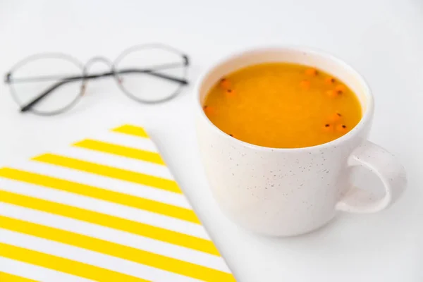
[[[146,131],[122,125],[0,168],[0,281],[61,280],[235,278]]]

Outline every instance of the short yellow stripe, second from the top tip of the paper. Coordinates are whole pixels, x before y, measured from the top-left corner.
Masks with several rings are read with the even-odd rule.
[[[154,164],[164,165],[163,159],[160,155],[155,152],[149,152],[142,149],[134,149],[131,147],[125,147],[121,145],[115,145],[107,142],[86,139],[73,144],[76,147],[82,147],[85,149],[91,149],[94,151],[117,154],[121,157],[128,157],[131,159],[140,159],[142,161],[149,161]]]

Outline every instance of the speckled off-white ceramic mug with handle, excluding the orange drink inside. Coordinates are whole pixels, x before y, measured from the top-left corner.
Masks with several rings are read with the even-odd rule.
[[[202,110],[209,89],[228,73],[265,62],[300,63],[338,77],[360,99],[360,123],[336,140],[296,149],[260,147],[223,133]],[[266,235],[307,233],[329,222],[337,211],[386,209],[405,188],[403,166],[367,140],[374,113],[367,83],[333,56],[295,47],[245,51],[204,73],[195,95],[197,136],[209,184],[223,212],[240,226]],[[352,166],[375,173],[384,185],[384,197],[373,199],[365,190],[353,187]]]

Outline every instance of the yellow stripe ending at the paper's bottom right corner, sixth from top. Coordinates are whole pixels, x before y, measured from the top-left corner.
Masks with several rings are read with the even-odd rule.
[[[54,240],[59,243],[81,247],[94,252],[100,252],[104,255],[119,257],[138,264],[145,264],[157,269],[200,279],[202,281],[235,281],[231,274],[206,266],[183,262],[179,259],[157,255],[152,252],[138,250],[134,247],[111,243],[106,240],[92,238],[78,233],[63,231],[61,229],[42,226],[18,219],[11,219],[6,216],[0,216],[0,227],[10,231],[25,233],[27,235]]]

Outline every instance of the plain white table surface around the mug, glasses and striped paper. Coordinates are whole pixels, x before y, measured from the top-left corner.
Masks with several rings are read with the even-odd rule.
[[[192,86],[172,102],[146,106],[125,97],[114,80],[90,82],[78,106],[47,118],[19,114],[0,85],[0,165],[92,130],[144,123],[238,281],[423,281],[423,1],[0,1],[1,74],[37,52],[114,59],[146,42],[188,52],[192,82],[216,59],[253,45],[299,44],[340,56],[372,87],[370,140],[405,165],[407,191],[391,209],[340,214],[309,235],[247,233],[221,214],[209,192],[197,154]]]

